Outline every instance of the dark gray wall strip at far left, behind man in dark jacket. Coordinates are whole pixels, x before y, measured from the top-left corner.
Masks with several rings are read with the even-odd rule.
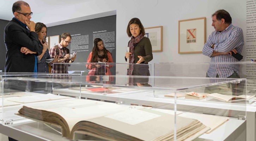
[[[4,29],[6,24],[8,23],[8,20],[2,20],[0,19],[0,70],[3,72],[5,71],[5,54],[6,54],[6,48],[5,48],[5,42],[4,42]]]

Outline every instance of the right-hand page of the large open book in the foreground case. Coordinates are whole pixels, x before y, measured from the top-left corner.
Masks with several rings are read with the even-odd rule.
[[[149,115],[150,118],[146,118]],[[146,141],[154,140],[174,130],[173,115],[151,109],[129,109],[115,115],[93,118],[88,121]],[[194,119],[191,118],[178,117],[177,128],[185,127],[193,121]]]

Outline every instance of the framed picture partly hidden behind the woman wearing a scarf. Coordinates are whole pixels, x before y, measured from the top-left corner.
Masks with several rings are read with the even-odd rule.
[[[145,28],[145,37],[150,39],[152,51],[163,51],[163,26],[147,27]]]

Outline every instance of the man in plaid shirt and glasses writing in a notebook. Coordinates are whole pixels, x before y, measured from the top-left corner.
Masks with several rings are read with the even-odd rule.
[[[69,33],[62,33],[61,41],[58,45],[51,47],[50,56],[54,58],[55,55],[59,55],[58,63],[72,63],[75,61],[76,56],[69,58],[69,49],[67,48],[68,44],[71,43],[71,35]],[[68,73],[67,64],[55,64],[51,69],[51,73]]]

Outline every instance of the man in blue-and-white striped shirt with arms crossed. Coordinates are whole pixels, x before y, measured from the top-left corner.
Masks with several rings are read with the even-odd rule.
[[[211,62],[237,62],[231,51],[241,54],[244,38],[241,28],[232,25],[232,18],[225,10],[218,10],[212,14],[212,26],[215,31],[211,33],[203,46],[203,55],[211,57]],[[239,78],[238,66],[231,63],[211,64],[207,77]]]

